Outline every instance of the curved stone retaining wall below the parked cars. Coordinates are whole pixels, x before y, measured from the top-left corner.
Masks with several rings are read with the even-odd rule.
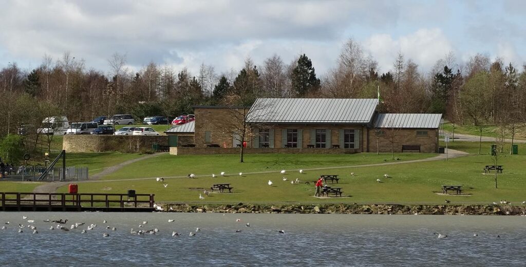
[[[62,147],[67,152],[151,151],[151,144],[168,146],[167,136],[66,135]]]

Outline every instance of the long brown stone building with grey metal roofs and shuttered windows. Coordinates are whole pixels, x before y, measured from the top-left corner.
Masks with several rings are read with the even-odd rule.
[[[244,140],[247,153],[438,152],[441,114],[378,114],[377,106],[377,99],[324,98],[197,106],[194,143],[171,151],[236,153]]]

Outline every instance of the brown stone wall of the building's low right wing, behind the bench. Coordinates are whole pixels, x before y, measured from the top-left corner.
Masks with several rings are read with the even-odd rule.
[[[417,136],[417,130],[427,131],[427,136]],[[391,152],[391,142],[389,141],[389,129],[383,129],[385,135],[378,138],[379,151]],[[420,152],[422,153],[437,153],[438,152],[438,129],[400,129],[394,138],[395,152],[402,152],[402,145],[420,145]],[[369,130],[369,152],[376,152],[377,139],[375,138],[375,130]],[[410,152],[410,151],[407,151]]]

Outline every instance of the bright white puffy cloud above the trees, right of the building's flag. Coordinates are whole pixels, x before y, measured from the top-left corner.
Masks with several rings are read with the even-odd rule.
[[[422,28],[416,32],[393,39],[389,34],[374,34],[365,41],[365,49],[378,60],[380,71],[392,69],[393,62],[401,52],[404,58],[412,59],[423,70],[452,50],[448,38],[439,28]]]

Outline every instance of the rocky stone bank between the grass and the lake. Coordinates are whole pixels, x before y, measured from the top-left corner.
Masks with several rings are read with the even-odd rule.
[[[164,204],[167,212],[304,213],[304,214],[427,214],[526,215],[526,207],[510,205],[400,205],[400,204]]]

